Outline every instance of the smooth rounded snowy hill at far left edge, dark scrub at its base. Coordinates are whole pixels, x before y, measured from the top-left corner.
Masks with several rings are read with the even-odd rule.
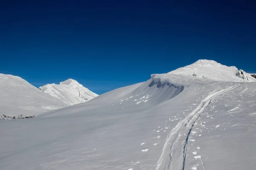
[[[67,107],[26,80],[12,75],[0,74],[0,94],[0,115],[31,116]]]

